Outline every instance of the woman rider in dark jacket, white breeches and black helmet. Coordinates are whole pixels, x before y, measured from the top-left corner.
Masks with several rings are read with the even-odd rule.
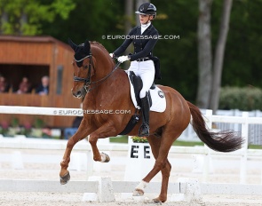
[[[153,49],[157,42],[158,32],[151,23],[156,15],[154,4],[141,4],[136,13],[139,14],[141,25],[132,28],[123,44],[115,52],[110,53],[110,56],[111,58],[118,57],[117,60],[120,62],[131,60],[129,71],[133,71],[135,75],[140,76],[142,79],[143,87],[139,97],[141,99],[143,123],[139,129],[139,136],[143,137],[149,136],[150,106],[148,91],[155,79],[155,65],[151,58],[153,57]],[[134,53],[121,56],[131,43],[134,45]]]

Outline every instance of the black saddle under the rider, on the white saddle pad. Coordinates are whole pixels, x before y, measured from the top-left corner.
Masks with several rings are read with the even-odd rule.
[[[142,90],[143,82],[142,82],[140,76],[135,75],[135,73],[132,72],[132,71],[130,71],[129,77],[130,77],[131,83],[133,84],[133,87],[134,87],[137,103],[138,103],[139,107],[142,107],[139,94],[140,94],[140,91]],[[151,90],[155,89],[155,83],[152,84],[150,89]],[[149,105],[151,107],[152,106],[152,99],[151,99],[150,91],[148,91],[148,99],[149,99]]]

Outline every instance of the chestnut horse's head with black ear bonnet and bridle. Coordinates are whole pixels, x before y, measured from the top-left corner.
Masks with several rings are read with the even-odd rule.
[[[83,98],[86,94],[86,86],[91,81],[91,69],[93,69],[93,60],[91,57],[91,45],[88,40],[84,44],[76,45],[68,39],[68,44],[75,51],[73,59],[74,84],[72,94],[75,98]]]

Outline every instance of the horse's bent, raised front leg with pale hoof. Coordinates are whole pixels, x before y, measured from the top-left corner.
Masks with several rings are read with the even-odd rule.
[[[91,144],[94,161],[99,161],[99,162],[109,162],[110,161],[110,158],[107,154],[99,153],[97,142],[98,142],[98,139],[114,137],[115,135],[117,135],[115,131],[115,127],[111,125],[110,123],[105,123],[103,126],[99,127],[98,130],[91,133],[89,142]]]

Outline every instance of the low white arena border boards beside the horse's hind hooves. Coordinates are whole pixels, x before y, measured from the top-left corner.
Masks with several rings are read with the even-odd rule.
[[[83,202],[113,202],[115,194],[124,194],[125,200],[131,197],[138,184],[100,177],[92,177],[90,181],[70,181],[65,186],[61,186],[59,181],[0,179],[0,192],[83,193]],[[151,182],[145,193],[158,194],[160,188],[159,182]],[[192,178],[179,178],[178,183],[170,183],[168,188],[170,202],[201,202],[202,194],[262,195],[262,185],[206,184]],[[133,197],[134,200],[143,198]]]

